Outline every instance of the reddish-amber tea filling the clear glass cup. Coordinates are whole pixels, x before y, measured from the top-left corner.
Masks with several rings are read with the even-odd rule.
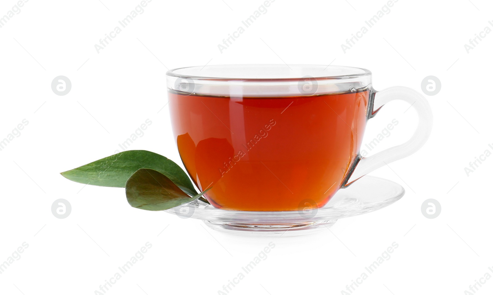
[[[169,93],[173,131],[189,175],[222,209],[321,207],[357,157],[369,91],[282,98]]]

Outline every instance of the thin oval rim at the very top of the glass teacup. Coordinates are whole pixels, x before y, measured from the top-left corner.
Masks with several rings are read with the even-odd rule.
[[[289,75],[286,72],[286,67],[289,68]],[[280,69],[279,74],[269,75],[269,70]],[[296,70],[294,70],[294,69]],[[323,68],[323,69],[322,69]],[[233,73],[231,69],[236,69],[237,72]],[[255,70],[250,75],[246,74],[247,70]],[[204,71],[205,70],[205,71]],[[213,74],[215,72],[228,71],[224,74]],[[211,74],[207,74],[210,72]],[[313,75],[308,74],[313,72]],[[317,72],[317,74],[315,73]],[[198,74],[204,73],[204,74]],[[326,73],[326,74],[325,74]],[[331,74],[332,73],[332,74]],[[335,74],[338,73],[338,74]],[[252,76],[255,75],[255,76]],[[284,76],[282,76],[284,75]],[[269,81],[292,81],[299,80],[308,77],[315,79],[354,79],[358,77],[371,76],[371,71],[366,68],[352,67],[352,66],[325,66],[325,65],[283,65],[283,64],[238,64],[238,65],[206,65],[206,66],[186,66],[177,67],[166,72],[166,76],[194,79],[194,80],[269,80]]]

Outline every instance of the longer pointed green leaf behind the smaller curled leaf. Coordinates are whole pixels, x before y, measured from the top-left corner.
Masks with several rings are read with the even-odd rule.
[[[121,152],[61,174],[83,184],[124,188],[130,176],[141,168],[151,168],[163,173],[190,196],[198,194],[180,166],[164,156],[149,151]]]

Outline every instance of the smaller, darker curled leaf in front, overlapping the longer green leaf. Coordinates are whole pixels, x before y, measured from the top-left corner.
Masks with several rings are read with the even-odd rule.
[[[150,211],[167,210],[191,202],[205,192],[189,197],[166,175],[154,169],[137,170],[125,185],[128,203],[132,207]]]

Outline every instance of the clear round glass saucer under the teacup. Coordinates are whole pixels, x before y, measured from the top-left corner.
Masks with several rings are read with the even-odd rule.
[[[404,188],[387,179],[363,176],[339,190],[322,208],[300,211],[236,211],[195,200],[166,212],[204,221],[210,228],[236,235],[295,236],[331,227],[339,218],[386,207],[404,196]]]

